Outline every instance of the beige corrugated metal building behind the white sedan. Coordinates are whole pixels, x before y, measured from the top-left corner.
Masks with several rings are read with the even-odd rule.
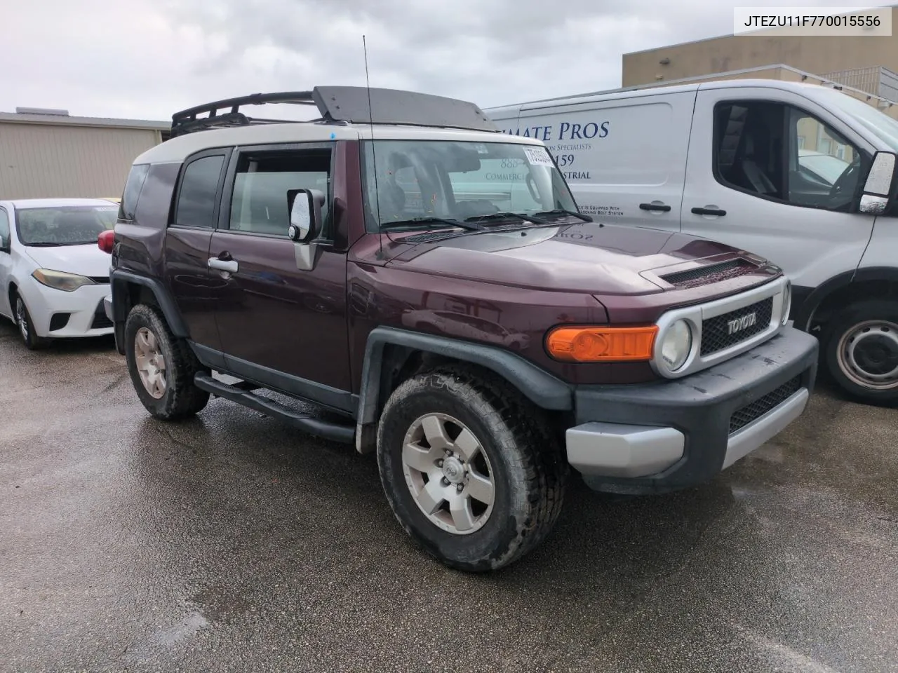
[[[120,197],[134,158],[170,122],[0,112],[0,198]]]

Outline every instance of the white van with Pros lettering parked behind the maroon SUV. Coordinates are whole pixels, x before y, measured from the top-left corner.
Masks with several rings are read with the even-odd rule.
[[[783,267],[791,318],[821,340],[834,379],[855,398],[898,399],[898,121],[777,80],[485,112],[543,140],[595,220],[720,240]]]

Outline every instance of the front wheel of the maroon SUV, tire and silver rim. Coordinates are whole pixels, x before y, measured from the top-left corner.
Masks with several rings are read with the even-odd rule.
[[[495,375],[454,366],[393,391],[377,463],[409,536],[468,572],[511,564],[541,543],[569,469],[540,409]]]

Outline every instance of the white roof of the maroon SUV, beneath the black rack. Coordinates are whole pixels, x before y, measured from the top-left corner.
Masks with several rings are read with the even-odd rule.
[[[330,140],[455,140],[471,143],[542,144],[534,138],[491,131],[468,131],[455,128],[374,126],[365,124],[333,124],[327,122],[293,122],[260,124],[251,127],[216,128],[179,135],[157,144],[138,156],[135,163],[182,162],[195,152],[213,147],[251,144],[326,143]]]

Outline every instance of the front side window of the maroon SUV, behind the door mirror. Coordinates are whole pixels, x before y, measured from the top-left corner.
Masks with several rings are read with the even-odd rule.
[[[233,232],[285,236],[290,226],[287,192],[317,189],[325,196],[321,208],[322,237],[330,212],[330,150],[241,154],[233,182]]]

